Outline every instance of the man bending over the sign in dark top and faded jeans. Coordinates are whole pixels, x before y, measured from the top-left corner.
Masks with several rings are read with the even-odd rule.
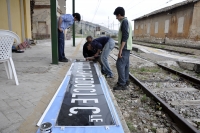
[[[108,56],[110,52],[115,47],[115,42],[110,37],[99,37],[94,39],[91,43],[88,44],[88,50],[97,51],[94,57],[98,57],[100,52],[100,60],[101,60],[101,72],[106,75],[107,78],[112,78],[113,73],[108,64]]]

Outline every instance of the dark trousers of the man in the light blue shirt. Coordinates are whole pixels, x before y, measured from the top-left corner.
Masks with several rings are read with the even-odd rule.
[[[62,60],[65,58],[65,38],[64,38],[64,33],[60,32],[58,30],[58,55],[59,55],[59,60]]]

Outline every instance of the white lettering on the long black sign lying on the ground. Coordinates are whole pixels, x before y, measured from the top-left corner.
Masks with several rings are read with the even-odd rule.
[[[74,81],[74,89],[72,90],[72,99],[71,103],[76,103],[82,101],[83,104],[87,104],[89,101],[94,103],[99,103],[98,98],[93,98],[97,95],[95,93],[97,90],[95,89],[94,78],[92,75],[92,71],[90,63],[88,62],[79,62],[78,63],[78,70],[74,74],[76,76]],[[86,97],[87,96],[87,97]],[[91,98],[91,96],[93,96]],[[75,98],[76,97],[76,98]],[[90,97],[90,98],[89,98]],[[92,110],[93,115],[89,119],[90,122],[103,122],[102,116],[98,115],[101,112],[100,108],[98,107],[71,107],[69,109],[69,116],[78,113],[78,110]],[[90,116],[89,116],[90,117]]]

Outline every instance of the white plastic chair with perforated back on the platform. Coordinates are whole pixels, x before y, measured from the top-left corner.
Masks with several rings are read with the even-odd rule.
[[[16,85],[19,85],[15,66],[12,60],[12,45],[16,39],[20,43],[19,36],[9,30],[0,29],[0,62],[4,63],[8,79],[12,79],[12,72],[15,78]]]

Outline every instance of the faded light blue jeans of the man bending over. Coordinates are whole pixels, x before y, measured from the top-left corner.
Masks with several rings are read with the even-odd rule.
[[[113,39],[109,39],[108,42],[105,44],[102,53],[101,53],[101,63],[102,63],[102,68],[101,70],[109,75],[109,76],[113,76],[113,73],[110,69],[110,66],[108,64],[108,56],[110,54],[110,52],[113,50],[113,48],[115,47],[115,42]]]

